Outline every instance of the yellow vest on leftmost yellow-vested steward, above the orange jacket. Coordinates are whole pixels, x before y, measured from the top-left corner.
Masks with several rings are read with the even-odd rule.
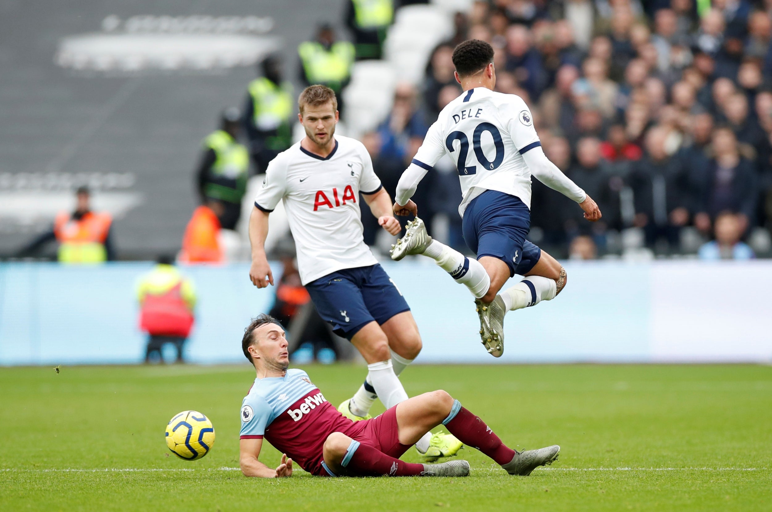
[[[204,185],[204,195],[225,202],[241,203],[249,171],[246,147],[222,130],[206,137],[204,147],[213,149],[216,155]]]

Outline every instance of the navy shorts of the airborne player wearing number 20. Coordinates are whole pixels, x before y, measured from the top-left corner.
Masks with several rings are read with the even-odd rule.
[[[510,277],[529,273],[541,257],[541,249],[526,239],[530,211],[520,198],[486,190],[466,207],[462,225],[464,240],[477,255],[493,256],[510,267]]]

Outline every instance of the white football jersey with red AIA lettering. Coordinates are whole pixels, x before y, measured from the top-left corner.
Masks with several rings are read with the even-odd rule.
[[[381,186],[364,145],[335,135],[327,158],[300,142],[279,153],[268,165],[255,206],[272,212],[283,200],[305,285],[337,270],[378,263],[362,236],[359,192],[374,194]]]

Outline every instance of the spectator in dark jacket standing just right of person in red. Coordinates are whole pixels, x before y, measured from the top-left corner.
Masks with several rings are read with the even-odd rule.
[[[635,197],[634,224],[644,229],[647,245],[654,247],[664,238],[674,248],[681,228],[689,222],[689,211],[681,161],[665,152],[666,137],[663,127],[648,131],[646,154],[633,164],[628,182]]]

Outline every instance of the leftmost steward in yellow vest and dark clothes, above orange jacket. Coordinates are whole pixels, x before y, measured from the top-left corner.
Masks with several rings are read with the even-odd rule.
[[[222,229],[235,229],[241,216],[241,201],[249,178],[249,153],[239,144],[239,109],[225,109],[220,129],[204,139],[204,154],[198,165],[201,203],[216,202]]]

